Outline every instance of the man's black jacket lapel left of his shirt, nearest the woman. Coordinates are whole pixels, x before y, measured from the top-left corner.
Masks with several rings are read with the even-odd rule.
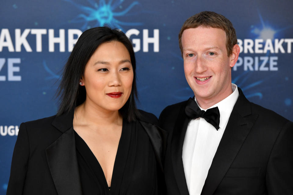
[[[175,179],[180,190],[180,194],[188,195],[189,192],[184,174],[182,151],[185,133],[190,119],[187,118],[184,109],[185,106],[181,108],[173,129],[173,135],[171,140],[171,158]]]

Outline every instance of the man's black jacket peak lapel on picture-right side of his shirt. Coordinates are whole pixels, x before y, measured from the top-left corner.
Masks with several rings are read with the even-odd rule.
[[[215,192],[258,117],[251,115],[250,102],[244,97],[241,89],[238,90],[239,97],[208,171],[202,195],[211,195]]]

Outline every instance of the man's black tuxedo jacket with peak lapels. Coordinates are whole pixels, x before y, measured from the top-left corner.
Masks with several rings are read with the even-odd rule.
[[[201,194],[293,194],[293,123],[249,102],[238,90]],[[189,194],[182,161],[189,123],[185,105],[170,105],[159,117],[169,133],[165,180],[167,193],[174,195]]]

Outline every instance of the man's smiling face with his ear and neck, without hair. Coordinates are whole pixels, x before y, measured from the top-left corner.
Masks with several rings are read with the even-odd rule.
[[[214,105],[232,93],[231,67],[237,62],[234,48],[238,45],[228,56],[224,30],[186,29],[182,34],[182,47],[185,78],[200,105]]]

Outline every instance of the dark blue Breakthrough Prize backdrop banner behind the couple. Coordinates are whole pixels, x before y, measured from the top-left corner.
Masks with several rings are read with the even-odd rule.
[[[51,0],[1,2],[0,194],[21,122],[55,115],[62,67],[80,34],[108,25],[132,40],[138,107],[159,116],[193,96],[178,45],[183,22],[214,11],[233,23],[241,48],[232,82],[246,97],[293,121],[292,1]]]

